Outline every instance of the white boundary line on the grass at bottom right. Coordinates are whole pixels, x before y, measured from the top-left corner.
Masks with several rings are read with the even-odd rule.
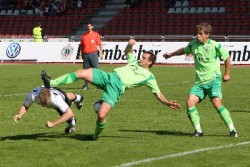
[[[143,160],[139,160],[139,161],[132,161],[132,162],[118,165],[116,167],[130,167],[130,166],[134,166],[134,165],[149,163],[152,161],[159,161],[159,160],[168,159],[168,158],[181,157],[181,156],[185,156],[185,155],[190,155],[190,154],[195,154],[195,153],[200,153],[200,152],[205,152],[205,151],[210,151],[210,150],[218,150],[218,149],[237,147],[237,146],[248,145],[248,144],[250,144],[250,141],[236,143],[236,144],[229,144],[229,145],[225,145],[225,146],[208,147],[208,148],[203,148],[203,149],[198,149],[198,150],[193,150],[193,151],[186,151],[186,152],[182,152],[182,153],[169,154],[169,155],[165,155],[162,157],[155,157],[155,158],[148,158],[148,159],[143,159]]]

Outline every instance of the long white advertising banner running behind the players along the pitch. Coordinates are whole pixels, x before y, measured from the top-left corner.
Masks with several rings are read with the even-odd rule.
[[[190,64],[192,58],[176,56],[168,60],[165,52],[173,52],[185,47],[187,42],[137,42],[133,47],[134,55],[140,59],[143,51],[157,55],[156,63]],[[221,42],[231,56],[232,64],[250,64],[250,42]],[[127,42],[103,42],[104,59],[100,63],[126,63],[124,49]],[[82,62],[77,60],[79,42],[0,42],[0,60],[37,61],[37,62]]]

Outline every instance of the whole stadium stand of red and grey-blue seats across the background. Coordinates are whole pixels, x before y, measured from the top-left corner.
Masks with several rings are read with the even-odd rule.
[[[215,35],[250,34],[249,0],[170,1],[135,0],[136,4],[126,4],[125,0],[120,1],[121,9],[118,9],[118,13],[112,14],[111,8],[109,10],[111,19],[106,20],[96,29],[103,36],[195,35],[195,25],[206,21],[214,27]],[[114,5],[112,2],[112,0],[84,0],[81,8],[66,4],[63,14],[41,17],[30,8],[24,9],[23,0],[16,0],[16,3],[13,1],[9,4],[9,8],[1,6],[0,35],[31,35],[32,28],[38,21],[41,22],[47,36],[81,35],[85,29],[84,22],[94,17],[102,19],[104,15],[101,13],[102,9],[108,8],[108,5]],[[98,21],[94,22],[94,25],[99,25]]]

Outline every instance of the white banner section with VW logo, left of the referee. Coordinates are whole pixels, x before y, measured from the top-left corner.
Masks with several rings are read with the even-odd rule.
[[[76,42],[1,42],[2,61],[76,62]]]

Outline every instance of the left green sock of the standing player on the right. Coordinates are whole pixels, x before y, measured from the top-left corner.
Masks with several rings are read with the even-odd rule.
[[[191,107],[187,109],[188,117],[197,132],[202,132],[200,125],[200,116],[196,107]]]

